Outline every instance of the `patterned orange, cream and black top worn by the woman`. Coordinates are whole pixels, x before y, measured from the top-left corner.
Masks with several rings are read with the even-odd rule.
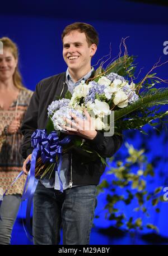
[[[22,141],[20,130],[16,134],[4,134],[4,127],[10,125],[16,114],[21,115],[21,121],[29,105],[31,90],[20,90],[18,97],[14,100],[8,110],[0,107],[0,188],[3,193],[11,185],[12,181],[22,170],[23,159],[19,153]],[[6,194],[22,194],[26,175],[22,175]]]

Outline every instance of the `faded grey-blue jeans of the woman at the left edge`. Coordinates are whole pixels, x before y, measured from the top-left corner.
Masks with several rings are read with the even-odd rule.
[[[21,195],[5,195],[1,204],[0,244],[10,244],[13,224],[21,203]]]

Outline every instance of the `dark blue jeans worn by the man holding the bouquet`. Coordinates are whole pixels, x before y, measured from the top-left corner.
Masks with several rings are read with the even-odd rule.
[[[96,186],[77,186],[64,190],[45,188],[40,182],[34,195],[34,244],[89,244],[97,204]]]

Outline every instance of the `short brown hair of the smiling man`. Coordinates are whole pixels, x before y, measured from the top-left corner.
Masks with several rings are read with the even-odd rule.
[[[62,42],[63,42],[64,36],[71,33],[71,31],[73,30],[77,30],[77,31],[80,31],[81,33],[85,33],[86,40],[89,46],[91,44],[96,44],[96,45],[99,44],[99,35],[95,30],[95,28],[90,24],[83,23],[83,22],[75,22],[73,24],[66,26],[66,28],[64,28],[62,33]]]

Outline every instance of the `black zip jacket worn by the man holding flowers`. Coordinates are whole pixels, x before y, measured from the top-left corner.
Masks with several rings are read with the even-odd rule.
[[[23,158],[32,153],[31,135],[36,129],[45,129],[48,122],[47,108],[57,97],[66,94],[68,86],[65,83],[66,73],[48,77],[41,80],[34,94],[32,95],[30,105],[27,109],[21,132],[24,135],[20,148]],[[122,136],[113,135],[104,137],[102,132],[97,131],[97,135],[93,140],[87,140],[92,149],[95,149],[101,157],[111,157],[120,148],[122,144]],[[100,158],[86,163],[86,159],[90,156],[81,154],[79,148],[69,152],[69,181],[73,181],[73,185],[97,185],[100,176],[105,169]]]

